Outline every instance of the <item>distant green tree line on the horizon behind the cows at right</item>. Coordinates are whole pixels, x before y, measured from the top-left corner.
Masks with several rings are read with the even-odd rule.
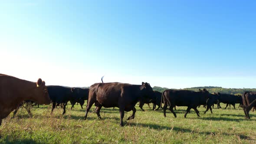
[[[231,94],[231,95],[243,95],[243,93],[246,91],[256,92],[256,88],[222,88],[217,86],[203,86],[203,87],[193,87],[193,88],[184,88],[184,89],[198,92],[199,88],[200,89],[206,88],[210,93],[220,92],[223,94]],[[153,87],[153,90],[158,92],[164,92],[164,90],[166,89],[170,89],[170,88],[162,88],[159,86]],[[171,89],[175,89],[175,88],[171,88]]]

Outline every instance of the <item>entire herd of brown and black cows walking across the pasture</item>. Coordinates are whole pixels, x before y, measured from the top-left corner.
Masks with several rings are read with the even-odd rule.
[[[144,104],[153,103],[153,109],[158,110],[163,106],[164,117],[166,117],[167,108],[172,112],[174,117],[177,115],[174,112],[176,106],[186,106],[187,110],[184,114],[186,118],[190,109],[194,109],[199,117],[197,107],[200,105],[206,106],[206,113],[209,109],[212,112],[214,104],[220,108],[220,103],[228,105],[240,104],[249,119],[249,111],[256,107],[256,92],[244,92],[242,96],[228,95],[221,93],[209,93],[206,89],[199,92],[189,90],[168,89],[164,92],[153,91],[148,82],[142,82],[141,85],[131,85],[127,83],[110,82],[110,83],[95,83],[90,88],[69,88],[57,85],[46,86],[42,79],[37,82],[29,82],[18,79],[10,75],[0,74],[0,125],[3,118],[6,118],[12,111],[16,114],[20,106],[26,105],[29,115],[32,115],[28,105],[34,105],[34,102],[39,104],[53,104],[52,111],[56,106],[63,108],[63,113],[66,113],[66,105],[70,101],[72,107],[76,103],[83,105],[87,100],[85,117],[92,105],[96,106],[95,112],[98,118],[101,118],[100,110],[105,108],[119,108],[120,125],[123,126],[123,118],[125,111],[132,111],[132,115],[128,120],[135,118],[135,105],[139,102],[139,107],[143,110]],[[157,108],[158,107],[158,108]]]

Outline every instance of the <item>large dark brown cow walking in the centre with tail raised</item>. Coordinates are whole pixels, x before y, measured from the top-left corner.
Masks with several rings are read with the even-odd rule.
[[[142,98],[153,97],[153,89],[149,83],[142,82],[141,85],[131,85],[127,83],[110,82],[95,83],[91,85],[89,90],[88,104],[85,112],[85,120],[92,105],[95,103],[96,114],[101,119],[100,109],[118,107],[120,112],[120,126],[123,127],[123,118],[125,111],[132,111],[132,115],[128,120],[135,118],[135,105]]]

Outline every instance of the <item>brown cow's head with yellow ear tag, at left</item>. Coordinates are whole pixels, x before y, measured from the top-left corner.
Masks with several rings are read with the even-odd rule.
[[[46,104],[49,105],[51,103],[51,100],[48,95],[48,90],[46,88],[45,82],[42,81],[42,79],[38,79],[36,82],[36,88],[34,91],[34,100],[38,104]]]

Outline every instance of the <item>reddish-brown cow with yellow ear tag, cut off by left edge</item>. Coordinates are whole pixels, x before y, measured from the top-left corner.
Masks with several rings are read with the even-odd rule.
[[[39,104],[50,104],[50,98],[42,79],[30,82],[10,75],[0,74],[0,125],[20,103],[25,100]]]

